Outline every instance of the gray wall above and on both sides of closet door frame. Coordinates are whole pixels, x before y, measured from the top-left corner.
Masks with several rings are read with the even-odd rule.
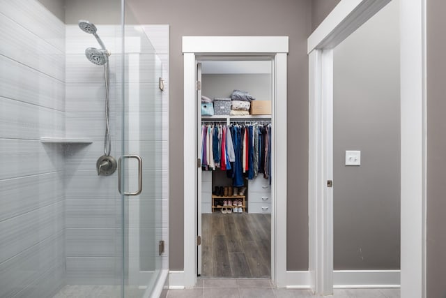
[[[128,0],[142,24],[170,24],[170,269],[183,270],[182,36],[289,36],[287,268],[308,269],[307,0]],[[227,16],[227,17],[224,17]]]

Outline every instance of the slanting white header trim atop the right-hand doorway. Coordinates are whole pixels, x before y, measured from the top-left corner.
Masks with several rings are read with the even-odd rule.
[[[342,0],[308,38],[308,54],[332,49],[391,0]]]

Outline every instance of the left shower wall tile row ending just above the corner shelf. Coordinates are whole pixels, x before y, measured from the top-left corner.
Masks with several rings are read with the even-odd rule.
[[[0,138],[63,137],[64,128],[61,111],[0,97]]]

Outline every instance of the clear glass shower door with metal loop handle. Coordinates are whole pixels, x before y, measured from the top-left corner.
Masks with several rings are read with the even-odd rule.
[[[142,27],[124,36],[124,297],[148,297],[162,268],[162,64]]]

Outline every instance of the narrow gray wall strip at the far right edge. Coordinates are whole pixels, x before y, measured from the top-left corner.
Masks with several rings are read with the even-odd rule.
[[[427,1],[427,297],[446,297],[446,2]]]

